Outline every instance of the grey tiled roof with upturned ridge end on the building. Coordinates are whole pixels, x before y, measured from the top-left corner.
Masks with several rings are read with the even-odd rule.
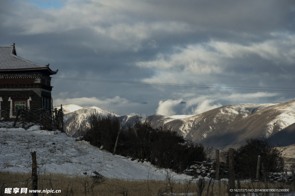
[[[49,64],[48,64],[49,65]],[[46,68],[16,55],[14,44],[12,46],[0,46],[0,70]]]

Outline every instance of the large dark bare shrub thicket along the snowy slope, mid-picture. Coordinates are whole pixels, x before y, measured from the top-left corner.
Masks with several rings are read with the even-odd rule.
[[[171,128],[153,128],[148,120],[142,121],[139,116],[134,124],[126,127],[110,113],[106,116],[94,110],[88,119],[89,125],[83,133],[83,139],[91,145],[104,146],[113,152],[118,132],[120,131],[116,153],[129,158],[149,161],[162,168],[182,172],[193,164],[203,161],[211,152],[203,144],[194,144],[183,138]]]

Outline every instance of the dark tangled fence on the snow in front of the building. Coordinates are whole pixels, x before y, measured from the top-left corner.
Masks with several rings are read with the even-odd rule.
[[[5,108],[0,113],[0,128],[29,128],[41,125],[45,130],[63,131],[63,107],[52,111],[30,108]]]

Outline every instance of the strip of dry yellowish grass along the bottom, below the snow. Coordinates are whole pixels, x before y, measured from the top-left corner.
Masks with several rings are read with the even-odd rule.
[[[39,190],[61,190],[61,193],[39,193],[38,195],[124,195],[124,196],[150,196],[150,195],[201,195],[227,196],[227,182],[226,181],[211,181],[204,182],[201,185],[201,180],[198,182],[191,181],[172,181],[170,175],[167,173],[166,181],[157,180],[119,180],[111,178],[91,178],[84,176],[69,176],[65,174],[42,174],[38,176]],[[292,185],[286,184],[268,184],[272,188],[289,188],[292,190]],[[12,173],[0,172],[0,195],[4,194],[5,188],[28,188],[32,187],[32,179],[30,173]],[[263,182],[243,182],[236,187],[244,188],[264,188]],[[199,190],[199,191],[198,191]],[[200,191],[201,190],[201,191]],[[10,194],[9,194],[10,195]],[[24,195],[14,194],[13,195]],[[29,191],[28,191],[28,195]],[[264,193],[256,194],[264,195]],[[287,195],[287,193],[276,193],[274,195]]]

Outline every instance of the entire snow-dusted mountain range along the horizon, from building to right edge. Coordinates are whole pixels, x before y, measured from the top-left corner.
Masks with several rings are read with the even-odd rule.
[[[64,105],[63,107],[66,107]],[[90,109],[91,108],[91,109]],[[78,136],[77,130],[85,129],[90,110],[83,108],[64,116],[66,133]],[[102,114],[106,110],[96,108]],[[137,116],[118,116],[122,123],[134,123]],[[286,103],[226,105],[198,115],[142,116],[151,120],[153,126],[168,125],[186,139],[214,149],[237,148],[245,138],[269,137],[295,123],[295,100]]]

